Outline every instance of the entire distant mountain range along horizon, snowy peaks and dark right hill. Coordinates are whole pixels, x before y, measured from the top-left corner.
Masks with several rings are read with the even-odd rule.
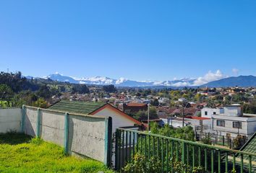
[[[32,76],[27,76],[32,78]],[[51,79],[54,81],[69,82],[73,84],[95,84],[95,85],[109,85],[115,86],[127,86],[127,87],[155,87],[155,86],[166,86],[166,87],[183,87],[183,86],[197,86],[195,85],[196,79],[178,79],[173,81],[133,81],[129,79],[111,79],[108,77],[95,76],[88,78],[76,78],[71,76],[64,76],[61,74],[50,74],[45,79]],[[232,76],[226,77],[216,81],[210,81],[206,84],[200,85],[202,87],[227,87],[227,86],[256,86],[256,76]]]

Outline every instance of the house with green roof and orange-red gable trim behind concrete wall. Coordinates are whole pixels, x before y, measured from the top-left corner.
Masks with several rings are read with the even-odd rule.
[[[135,118],[130,117],[126,113],[116,107],[104,102],[80,102],[61,100],[54,105],[48,107],[49,110],[60,110],[64,112],[74,112],[87,115],[112,117],[112,132],[116,132],[116,128],[139,127],[142,125]]]

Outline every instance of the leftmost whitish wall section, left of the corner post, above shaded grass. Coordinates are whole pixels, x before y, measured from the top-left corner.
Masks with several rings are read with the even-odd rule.
[[[0,133],[20,132],[21,108],[0,109]]]

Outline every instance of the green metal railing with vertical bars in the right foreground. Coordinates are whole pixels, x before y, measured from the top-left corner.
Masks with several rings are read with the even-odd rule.
[[[252,161],[256,154],[124,128],[118,128],[115,136],[116,170],[140,153],[148,160],[152,156],[161,160],[162,172],[173,172],[174,161],[187,167],[202,167],[205,172],[256,172]]]

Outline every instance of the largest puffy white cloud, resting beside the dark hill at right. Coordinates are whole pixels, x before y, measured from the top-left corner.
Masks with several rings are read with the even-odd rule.
[[[197,78],[197,80],[194,81],[193,85],[199,86],[199,85],[202,85],[202,84],[207,84],[210,81],[216,81],[216,80],[219,80],[219,79],[223,79],[225,77],[226,76],[224,76],[221,73],[220,70],[217,70],[215,73],[212,72],[212,71],[208,71],[208,73],[205,74],[205,76]]]

